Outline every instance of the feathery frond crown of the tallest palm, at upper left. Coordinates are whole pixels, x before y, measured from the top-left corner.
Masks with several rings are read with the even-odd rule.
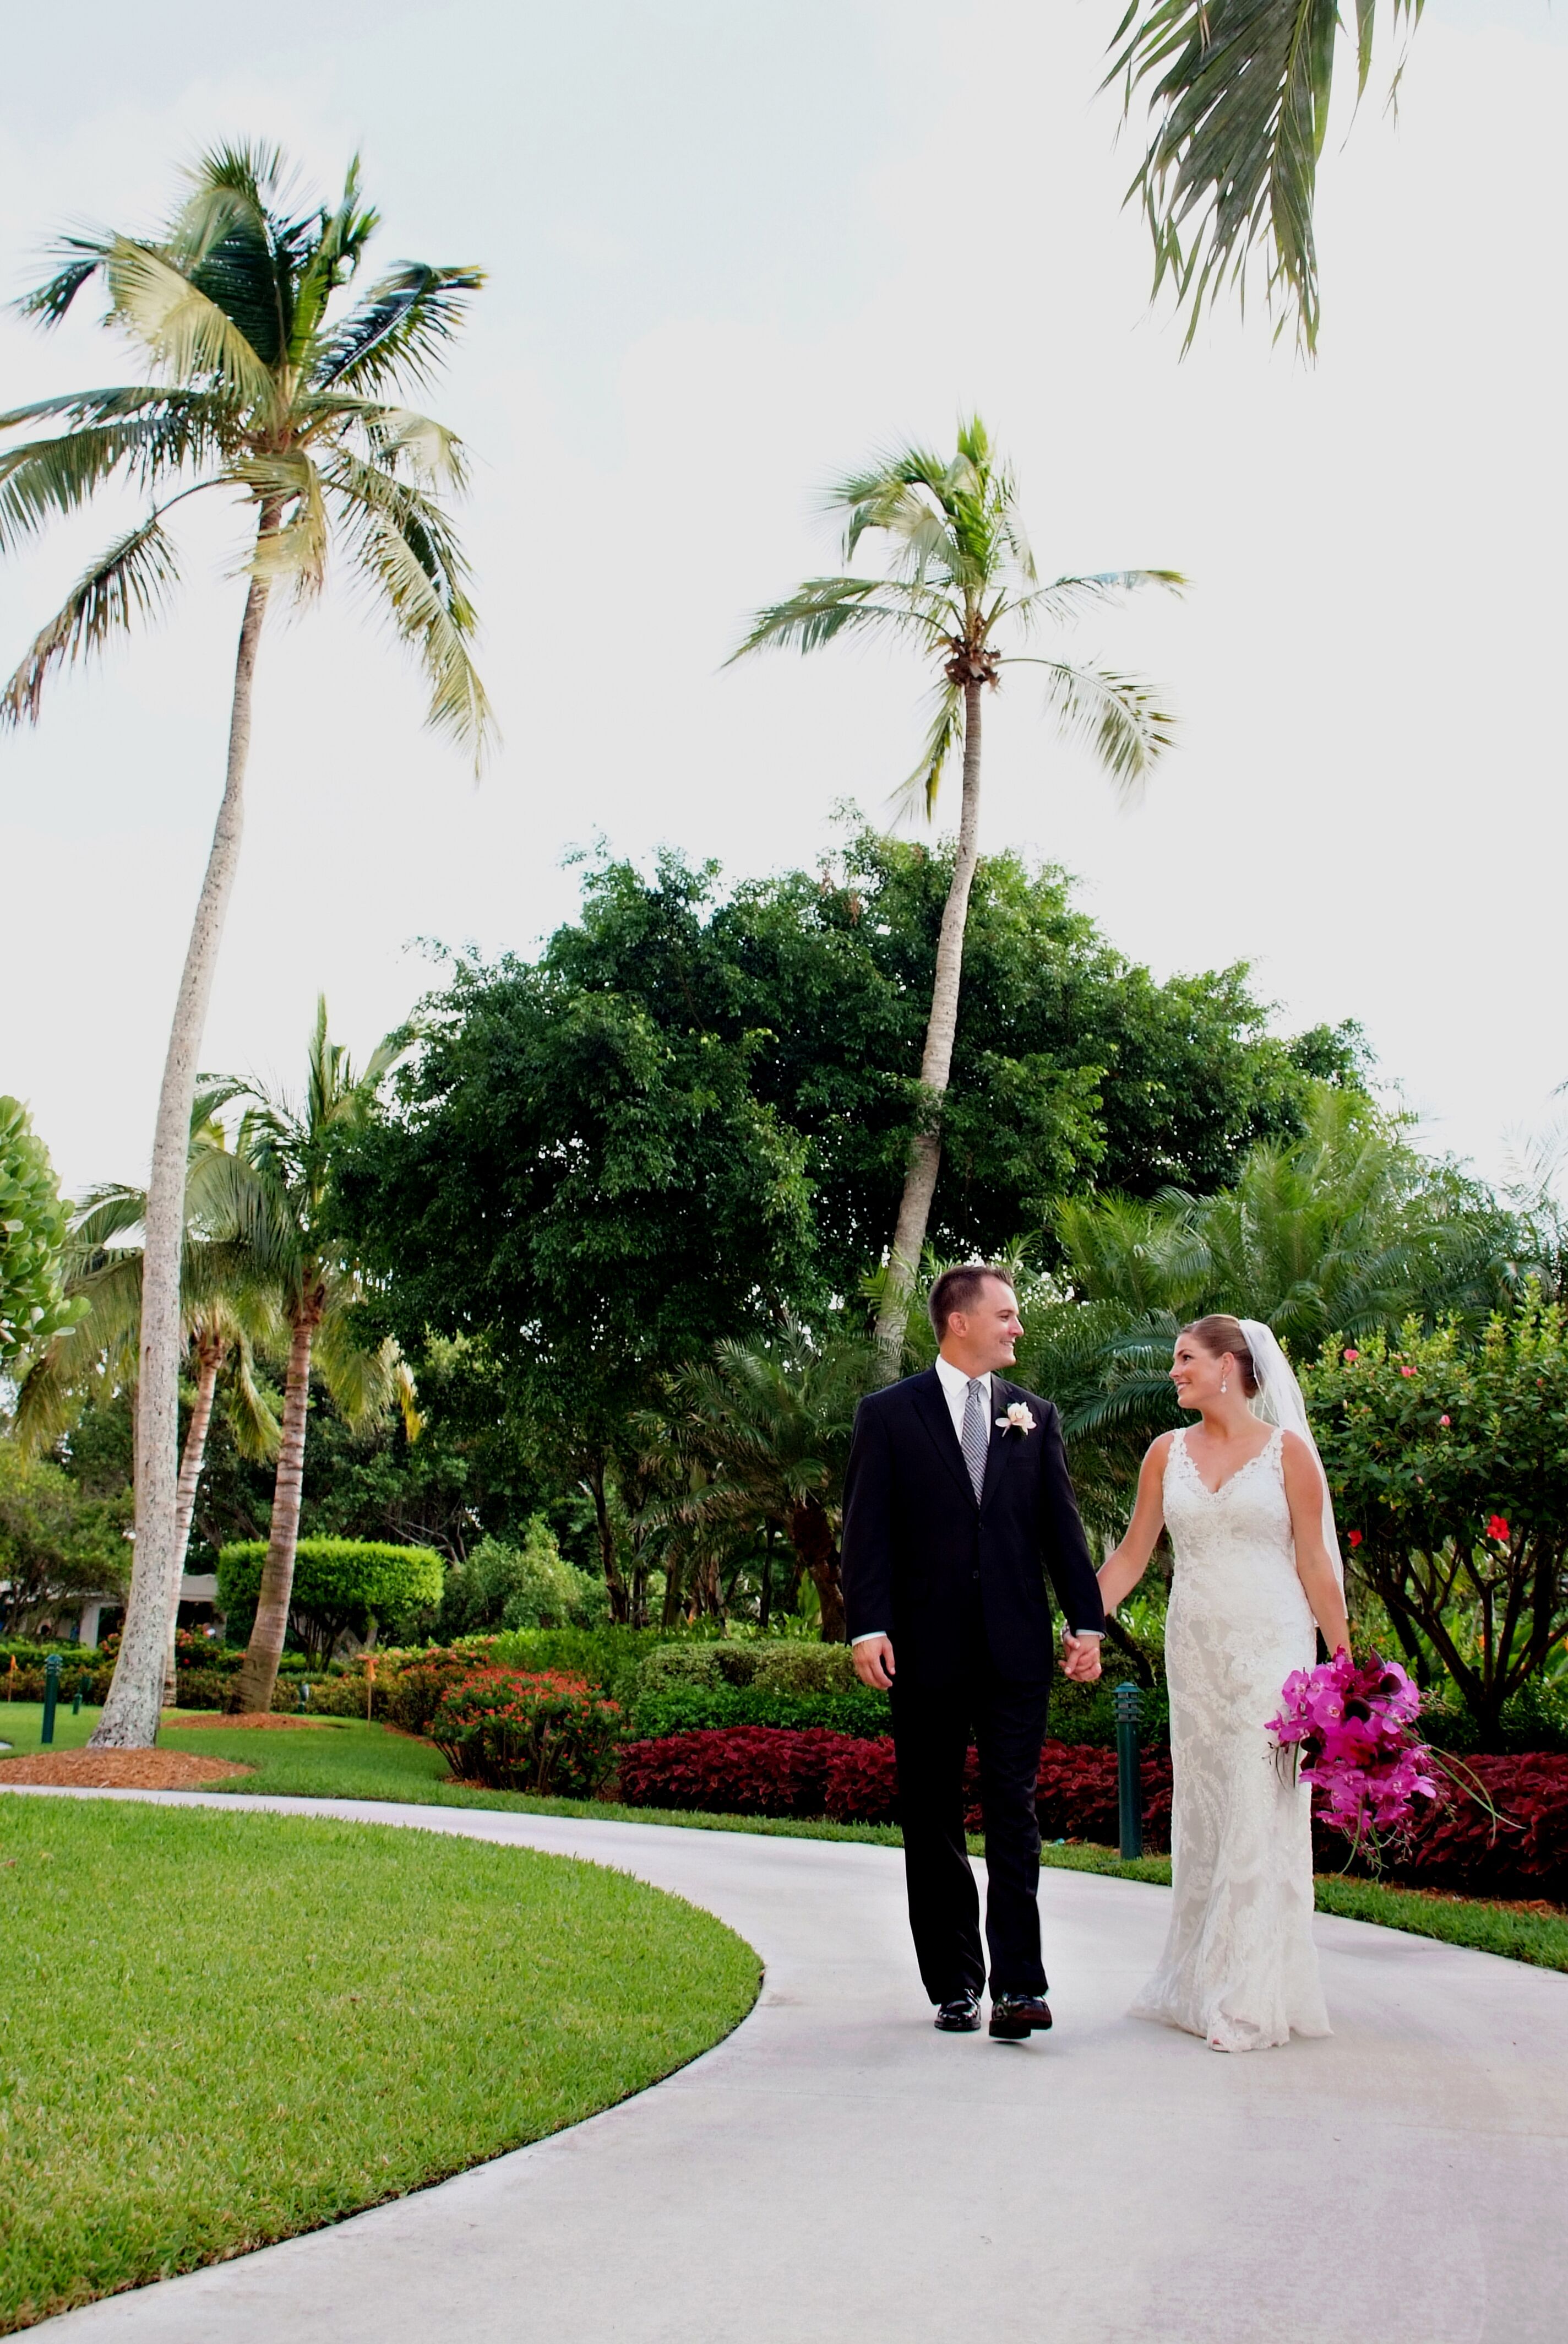
[[[431,722],[473,745],[488,734],[469,656],[466,563],[441,495],[464,485],[452,431],[398,396],[422,384],[452,335],[473,267],[405,260],[356,302],[377,213],[359,162],[335,211],[288,213],[277,148],[218,148],[159,239],[66,237],[56,272],[16,307],[59,326],[98,281],[105,326],[152,380],[66,391],[0,415],[0,431],[59,424],[0,452],[0,551],[77,511],[110,483],[148,497],[40,628],[0,696],[0,720],[38,720],[54,668],[101,652],[152,616],[178,584],[169,513],[218,490],[255,513],[248,572],[314,593],[335,551],[380,598],[431,682]]]

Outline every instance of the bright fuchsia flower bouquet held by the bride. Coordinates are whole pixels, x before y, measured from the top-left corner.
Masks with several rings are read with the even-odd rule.
[[[1324,1793],[1322,1821],[1345,1838],[1376,1849],[1411,1821],[1416,1798],[1437,1798],[1432,1751],[1413,1732],[1420,1692],[1397,1662],[1338,1650],[1317,1669],[1294,1669],[1280,1702],[1268,1732],[1298,1779]]]

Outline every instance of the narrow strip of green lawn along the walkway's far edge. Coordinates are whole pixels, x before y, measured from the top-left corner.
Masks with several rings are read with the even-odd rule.
[[[16,1720],[12,1728],[2,1723],[7,1716]],[[38,1749],[40,1716],[38,1704],[16,1702],[14,1711],[0,1706],[0,1737],[9,1737],[16,1753]],[[66,1749],[84,1742],[94,1720],[94,1709],[84,1709],[80,1718],[61,1709],[56,1744]],[[75,1728],[70,1744],[68,1728]],[[255,1732],[248,1728],[180,1732],[166,1728],[159,1739],[166,1749],[206,1751],[213,1758],[237,1758],[241,1765],[258,1767],[253,1777],[230,1777],[213,1784],[213,1788],[237,1798],[255,1791],[291,1798],[398,1798],[431,1807],[511,1807],[525,1814],[584,1814],[598,1821],[680,1824],[687,1831],[752,1831],[773,1838],[902,1847],[902,1835],[891,1824],[792,1824],[750,1814],[689,1814],[663,1807],[616,1807],[605,1800],[473,1791],[443,1781],[445,1760],[427,1742],[413,1742],[405,1735],[387,1732],[384,1725],[363,1725],[352,1718],[328,1718],[302,1732]],[[0,1781],[5,1781],[2,1758]],[[980,1840],[970,1840],[970,1847],[975,1854],[984,1852]],[[1111,1847],[1062,1845],[1045,1847],[1043,1859],[1066,1871],[1170,1887],[1170,1856],[1141,1856],[1137,1863],[1123,1863]],[[1514,1962],[1568,1971],[1568,1915],[1512,1913],[1507,1906],[1420,1896],[1409,1889],[1380,1887],[1376,1880],[1343,1880],[1338,1875],[1320,1875],[1317,1910],[1341,1913],[1345,1920],[1376,1920],[1385,1929],[1406,1929],[1416,1936],[1444,1938],[1448,1946],[1474,1946],[1479,1953],[1500,1953]]]

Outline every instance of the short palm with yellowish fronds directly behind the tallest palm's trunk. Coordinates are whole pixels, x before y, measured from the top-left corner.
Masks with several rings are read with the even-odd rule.
[[[230,1360],[234,1371],[227,1385],[227,1416],[241,1456],[267,1458],[279,1444],[277,1418],[255,1383],[255,1350],[277,1338],[279,1301],[270,1282],[258,1275],[248,1245],[230,1226],[232,1158],[218,1109],[237,1090],[237,1083],[204,1085],[192,1106],[180,1331],[195,1395],[176,1491],[173,1542],[180,1570],[190,1547],[218,1378]],[[21,1383],[16,1432],[33,1449],[52,1444],[70,1430],[82,1397],[94,1385],[131,1392],[136,1388],[143,1294],[143,1249],[136,1238],[145,1217],[145,1188],[108,1184],[91,1191],[70,1224],[66,1294],[75,1301],[80,1317],[38,1352]],[[173,1699],[176,1622],[178,1603],[169,1608],[166,1702]]]

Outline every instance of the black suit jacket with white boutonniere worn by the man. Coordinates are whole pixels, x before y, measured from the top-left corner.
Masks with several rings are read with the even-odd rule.
[[[996,1423],[1015,1399],[1034,1432]],[[1050,1399],[991,1376],[980,1505],[933,1367],[860,1402],[844,1477],[844,1608],[851,1638],[877,1629],[893,1638],[900,1685],[961,1674],[975,1601],[996,1671],[1045,1683],[1055,1650],[1045,1573],[1073,1631],[1104,1629]]]

